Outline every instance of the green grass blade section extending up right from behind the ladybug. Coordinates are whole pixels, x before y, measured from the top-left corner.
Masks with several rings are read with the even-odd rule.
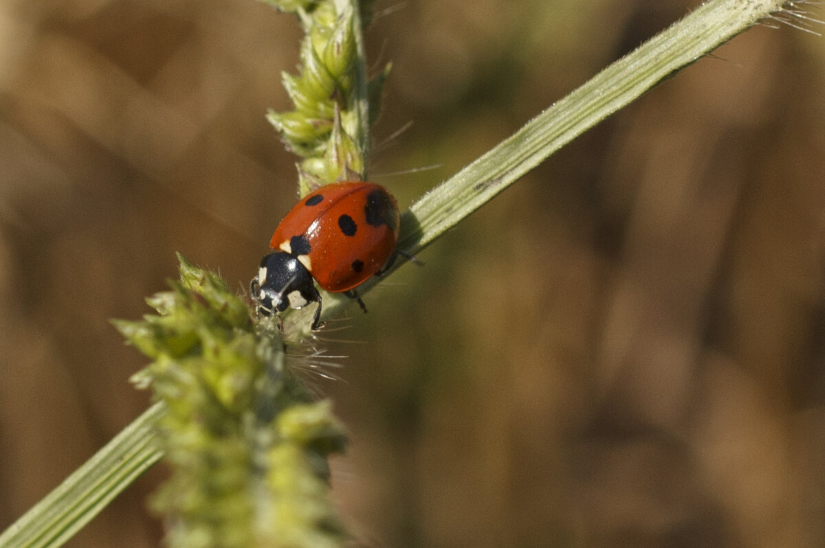
[[[705,2],[413,204],[403,219],[399,248],[411,255],[422,250],[553,152],[785,3]]]

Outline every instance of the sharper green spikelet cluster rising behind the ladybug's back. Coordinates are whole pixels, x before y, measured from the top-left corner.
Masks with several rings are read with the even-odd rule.
[[[336,180],[363,179],[367,128],[374,120],[369,112],[379,110],[386,71],[358,89],[364,78],[359,75],[363,64],[359,63],[353,8],[332,0],[265,1],[297,14],[304,27],[298,73],[281,75],[293,110],[270,111],[266,116],[286,147],[303,159],[299,194]],[[360,2],[358,9],[363,22],[372,2]]]

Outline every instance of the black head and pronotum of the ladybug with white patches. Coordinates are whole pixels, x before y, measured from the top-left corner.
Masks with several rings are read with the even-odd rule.
[[[264,256],[249,290],[257,302],[258,312],[264,316],[321,302],[309,270],[295,256],[283,251]]]

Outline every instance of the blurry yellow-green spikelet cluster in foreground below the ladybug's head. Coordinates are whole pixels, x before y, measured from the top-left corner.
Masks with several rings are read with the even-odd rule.
[[[153,362],[135,376],[165,403],[158,435],[172,475],[151,500],[168,546],[342,546],[327,457],[345,445],[329,401],[313,402],[284,367],[274,321],[217,274],[181,260],[157,315],[117,321]]]

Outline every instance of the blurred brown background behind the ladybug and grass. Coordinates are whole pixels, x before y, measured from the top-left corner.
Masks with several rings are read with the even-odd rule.
[[[379,2],[376,143],[413,126],[372,179],[407,207],[698,3]],[[298,43],[252,0],[0,4],[0,528],[144,410],[107,320],[175,251],[251,278],[295,198],[264,113]],[[321,384],[365,543],[825,546],[823,80],[825,39],[753,29],[353,308]],[[69,546],[157,546],[162,477]]]

